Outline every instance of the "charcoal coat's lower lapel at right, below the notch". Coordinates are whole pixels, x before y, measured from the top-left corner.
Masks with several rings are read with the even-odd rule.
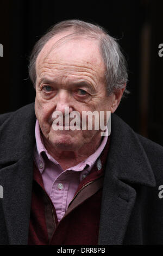
[[[114,176],[104,185],[99,245],[122,245],[136,192]]]

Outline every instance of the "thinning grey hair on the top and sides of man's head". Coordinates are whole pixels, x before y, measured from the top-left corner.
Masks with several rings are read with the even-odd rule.
[[[127,63],[117,40],[110,36],[104,28],[81,20],[61,21],[51,27],[48,32],[36,42],[29,59],[29,77],[34,84],[34,87],[36,83],[35,66],[37,56],[49,39],[64,31],[73,31],[80,35],[92,35],[99,40],[99,50],[106,69],[105,78],[108,95],[118,89],[124,88],[124,84],[128,81]],[[129,94],[129,91],[125,88],[123,96],[127,94]]]

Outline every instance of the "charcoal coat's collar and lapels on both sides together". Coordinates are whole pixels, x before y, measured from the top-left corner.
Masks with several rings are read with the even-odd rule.
[[[27,244],[35,143],[34,103],[11,113],[0,128],[0,185],[9,242]],[[154,174],[139,137],[117,115],[111,115],[99,244],[121,244],[134,206],[133,184],[155,186]]]

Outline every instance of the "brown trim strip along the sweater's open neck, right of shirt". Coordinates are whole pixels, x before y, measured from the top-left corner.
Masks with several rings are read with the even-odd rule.
[[[93,181],[88,186],[84,187],[82,191],[77,194],[77,197],[73,199],[72,203],[68,207],[65,215],[68,215],[74,208],[76,208],[79,204],[82,204],[86,199],[90,198],[95,194],[100,188],[103,187],[103,179],[104,176],[101,176],[99,179]]]

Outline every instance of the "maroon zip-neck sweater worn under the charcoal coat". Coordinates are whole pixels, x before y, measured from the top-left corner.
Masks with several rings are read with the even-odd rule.
[[[43,187],[42,176],[34,164],[32,205],[28,245],[97,245],[102,185],[110,137],[97,165],[79,184],[68,209],[58,223],[51,198]]]

